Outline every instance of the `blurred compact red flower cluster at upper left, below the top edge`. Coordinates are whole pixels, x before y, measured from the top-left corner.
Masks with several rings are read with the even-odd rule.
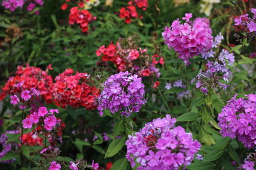
[[[96,17],[92,17],[92,13],[87,10],[79,10],[77,6],[70,9],[69,24],[80,24],[83,32],[88,31],[88,25],[93,20],[96,20]]]

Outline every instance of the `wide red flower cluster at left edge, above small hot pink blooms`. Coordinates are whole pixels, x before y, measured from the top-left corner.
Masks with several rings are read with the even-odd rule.
[[[52,103],[52,76],[48,74],[48,70],[52,69],[48,66],[46,71],[39,67],[18,66],[15,76],[9,78],[2,87],[1,99],[4,99],[6,94],[20,94],[23,90],[36,89],[40,92],[40,96],[46,103]],[[23,90],[22,90],[23,89]]]

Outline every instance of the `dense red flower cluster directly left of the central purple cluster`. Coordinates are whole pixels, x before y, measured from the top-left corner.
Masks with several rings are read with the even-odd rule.
[[[88,85],[90,75],[87,73],[74,74],[73,69],[66,69],[55,78],[54,103],[56,106],[66,108],[84,106],[87,110],[96,108],[95,97],[99,96],[99,89]]]

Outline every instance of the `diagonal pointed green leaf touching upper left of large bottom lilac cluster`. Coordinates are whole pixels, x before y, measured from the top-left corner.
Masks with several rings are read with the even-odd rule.
[[[125,138],[118,138],[115,139],[115,141],[112,141],[109,146],[108,150],[106,152],[105,158],[113,157],[116,153],[118,153],[124,146]]]

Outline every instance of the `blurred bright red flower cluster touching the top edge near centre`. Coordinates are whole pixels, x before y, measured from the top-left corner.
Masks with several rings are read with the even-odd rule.
[[[147,0],[133,0],[129,1],[129,6],[122,7],[120,9],[120,18],[125,18],[124,22],[129,24],[131,23],[131,18],[143,18],[141,15],[138,15],[136,11],[137,8],[141,8],[142,10],[147,10],[148,8],[148,1]]]

